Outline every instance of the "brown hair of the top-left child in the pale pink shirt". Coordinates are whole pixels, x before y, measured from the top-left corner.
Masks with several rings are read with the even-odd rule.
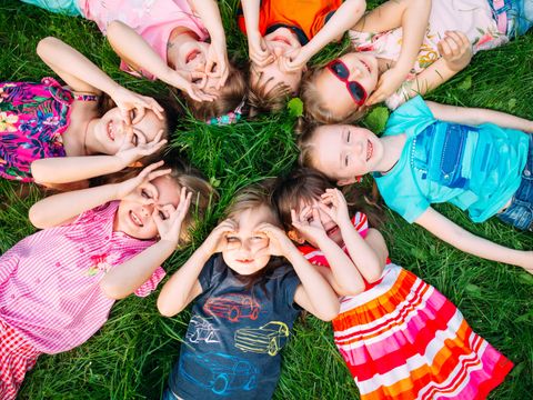
[[[197,101],[191,99],[187,92],[183,92],[187,106],[195,119],[208,121],[211,118],[233,111],[241,103],[247,94],[244,73],[231,62],[229,63],[229,70],[228,80],[213,101]]]

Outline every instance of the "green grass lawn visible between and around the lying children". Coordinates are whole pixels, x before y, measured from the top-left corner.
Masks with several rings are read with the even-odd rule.
[[[231,52],[247,54],[245,39],[233,20],[237,1],[221,3]],[[375,7],[375,2],[370,7]],[[0,0],[0,79],[40,80],[52,72],[34,49],[39,39],[56,36],[87,54],[120,83],[143,93],[164,86],[134,79],[118,70],[119,59],[95,24]],[[344,41],[345,46],[346,42]],[[330,46],[315,61],[338,53]],[[325,54],[325,56],[324,56]],[[450,104],[486,107],[533,118],[533,34],[503,48],[475,56],[472,64],[429,99]],[[369,122],[370,123],[370,122]],[[221,193],[194,242],[165,264],[175,271],[214,226],[234,191],[263,177],[291,168],[296,148],[288,114],[265,116],[232,127],[207,127],[189,118],[180,121],[172,147],[200,168]],[[20,200],[21,192],[29,191]],[[0,251],[4,252],[34,229],[28,208],[42,196],[34,187],[0,182]],[[466,229],[519,249],[532,249],[532,236],[496,220],[474,226],[452,207],[440,211]],[[461,253],[421,228],[388,213],[383,233],[391,258],[435,286],[457,307],[473,329],[507,356],[516,367],[491,399],[531,399],[533,392],[533,277],[517,268]],[[155,298],[129,298],[115,304],[108,323],[80,348],[43,356],[30,372],[21,399],[158,399],[178,359],[188,312],[172,319],[158,314]],[[300,320],[283,352],[276,399],[355,399],[355,384],[336,352],[331,328],[314,318]]]

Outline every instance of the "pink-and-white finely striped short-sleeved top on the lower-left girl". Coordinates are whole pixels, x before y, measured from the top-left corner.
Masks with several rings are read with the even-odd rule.
[[[118,204],[41,230],[0,257],[0,319],[38,351],[70,350],[100,329],[114,302],[100,290],[100,280],[153,243],[113,231]],[[163,276],[159,267],[135,294],[150,293]]]

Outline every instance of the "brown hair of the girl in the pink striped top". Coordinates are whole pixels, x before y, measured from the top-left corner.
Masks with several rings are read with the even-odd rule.
[[[192,192],[191,206],[180,230],[179,244],[184,246],[191,241],[192,231],[198,222],[203,219],[209,207],[218,200],[219,194],[199,170],[170,154],[164,158],[164,161],[162,168],[171,169],[169,177],[178,183],[180,189],[185,187]],[[140,171],[139,168],[128,168],[119,173],[108,176],[103,183],[121,182],[135,177]],[[177,196],[179,194],[180,192],[177,193]]]

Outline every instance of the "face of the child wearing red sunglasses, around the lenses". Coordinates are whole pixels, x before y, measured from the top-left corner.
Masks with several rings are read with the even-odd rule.
[[[349,81],[359,82],[370,96],[378,84],[378,59],[374,56],[351,52],[339,58],[348,67],[350,76]],[[346,82],[340,80],[328,68],[323,68],[315,77],[315,86],[319,91],[322,103],[336,116],[348,116],[359,109]]]

